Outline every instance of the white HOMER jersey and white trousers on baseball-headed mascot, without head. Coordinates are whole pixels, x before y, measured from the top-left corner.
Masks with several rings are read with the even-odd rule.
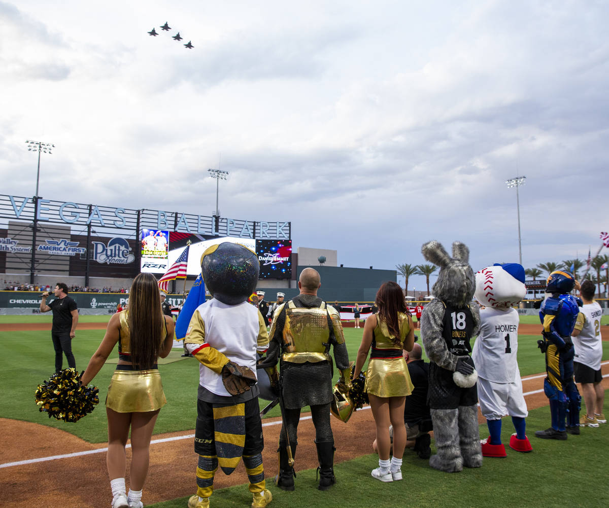
[[[471,358],[478,373],[482,416],[499,420],[505,415],[529,416],[518,369],[518,312],[513,308],[480,311],[481,329]]]

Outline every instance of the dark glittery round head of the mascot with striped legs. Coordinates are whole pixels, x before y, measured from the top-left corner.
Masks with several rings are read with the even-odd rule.
[[[201,256],[203,280],[214,298],[227,305],[245,302],[256,289],[260,262],[239,243],[212,245]]]

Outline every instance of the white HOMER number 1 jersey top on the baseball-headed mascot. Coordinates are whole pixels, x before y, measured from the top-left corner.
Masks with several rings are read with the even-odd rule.
[[[481,378],[512,383],[519,377],[518,312],[514,308],[486,307],[480,311],[480,333],[471,357]]]

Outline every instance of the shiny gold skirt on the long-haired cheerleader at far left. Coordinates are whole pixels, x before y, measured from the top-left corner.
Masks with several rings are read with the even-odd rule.
[[[167,403],[158,369],[114,371],[106,407],[116,412],[157,411]]]

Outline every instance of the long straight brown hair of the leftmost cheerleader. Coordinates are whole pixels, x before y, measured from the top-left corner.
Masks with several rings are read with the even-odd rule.
[[[152,369],[165,337],[161,297],[157,279],[152,274],[140,273],[133,279],[128,313],[133,366],[141,371]]]

